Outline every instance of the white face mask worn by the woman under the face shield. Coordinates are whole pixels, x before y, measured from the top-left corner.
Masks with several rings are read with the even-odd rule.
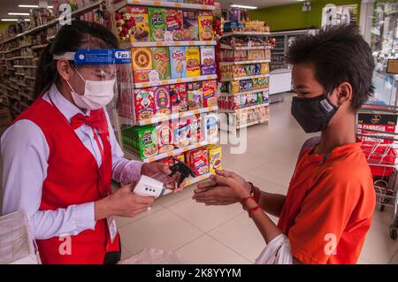
[[[78,107],[87,110],[98,110],[111,103],[116,80],[85,80],[78,70],[75,69],[75,71],[79,73],[80,78],[84,81],[84,95],[74,92],[69,81],[66,81],[66,83],[71,88],[73,101]]]

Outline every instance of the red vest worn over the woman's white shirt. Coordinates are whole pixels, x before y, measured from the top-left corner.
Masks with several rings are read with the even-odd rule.
[[[101,135],[104,157],[101,168],[98,168],[96,158],[57,107],[39,98],[14,122],[20,119],[28,119],[39,126],[50,148],[39,210],[66,209],[70,205],[95,202],[111,194],[109,133]],[[60,237],[36,240],[42,263],[103,263],[107,252],[120,249],[119,234],[111,243],[106,219],[97,220],[95,230],[71,236],[70,249],[65,245],[67,240]]]

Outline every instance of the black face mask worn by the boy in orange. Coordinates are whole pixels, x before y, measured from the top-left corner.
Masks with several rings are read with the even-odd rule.
[[[325,94],[313,98],[293,97],[292,116],[306,133],[323,131],[339,108]]]

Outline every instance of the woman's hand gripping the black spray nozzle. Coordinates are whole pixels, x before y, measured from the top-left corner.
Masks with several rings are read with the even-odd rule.
[[[172,189],[174,193],[181,192],[185,187],[185,180],[176,187],[179,179],[180,172],[177,172],[172,177],[169,175],[172,173],[167,164],[162,163],[146,163],[142,164],[141,174],[153,177],[167,184],[167,187]]]

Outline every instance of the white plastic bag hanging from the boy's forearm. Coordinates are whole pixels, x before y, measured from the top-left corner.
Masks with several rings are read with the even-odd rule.
[[[256,264],[292,264],[290,242],[284,234],[280,234],[268,243]]]

